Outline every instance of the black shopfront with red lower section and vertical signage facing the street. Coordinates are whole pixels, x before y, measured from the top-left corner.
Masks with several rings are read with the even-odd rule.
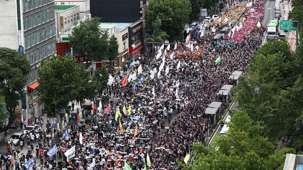
[[[129,44],[129,55],[128,61],[132,61],[133,58],[136,59],[138,55],[143,53],[143,27],[142,20],[132,24],[128,29],[128,44]]]

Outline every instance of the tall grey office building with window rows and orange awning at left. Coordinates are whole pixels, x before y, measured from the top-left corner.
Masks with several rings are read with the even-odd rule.
[[[0,0],[0,46],[23,52],[31,66],[28,75],[28,96],[22,109],[28,109],[23,119],[32,120],[41,114],[42,106],[35,96],[37,70],[41,59],[56,53],[54,0]]]

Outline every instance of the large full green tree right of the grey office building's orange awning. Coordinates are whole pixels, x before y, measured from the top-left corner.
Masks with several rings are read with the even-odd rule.
[[[38,95],[43,103],[43,112],[47,117],[56,117],[57,110],[66,109],[70,114],[69,102],[74,99],[76,87],[79,83],[78,66],[74,56],[55,56],[49,61],[41,60],[41,69],[38,70]],[[78,86],[77,86],[78,87]],[[56,95],[55,95],[56,94]],[[58,113],[61,117],[60,129],[65,113]]]

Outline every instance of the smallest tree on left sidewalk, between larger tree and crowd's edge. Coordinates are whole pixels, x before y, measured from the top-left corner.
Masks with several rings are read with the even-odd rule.
[[[101,69],[97,69],[92,77],[92,81],[96,84],[96,89],[100,94],[102,94],[102,91],[107,88],[109,76],[110,74],[107,69],[102,67]]]

